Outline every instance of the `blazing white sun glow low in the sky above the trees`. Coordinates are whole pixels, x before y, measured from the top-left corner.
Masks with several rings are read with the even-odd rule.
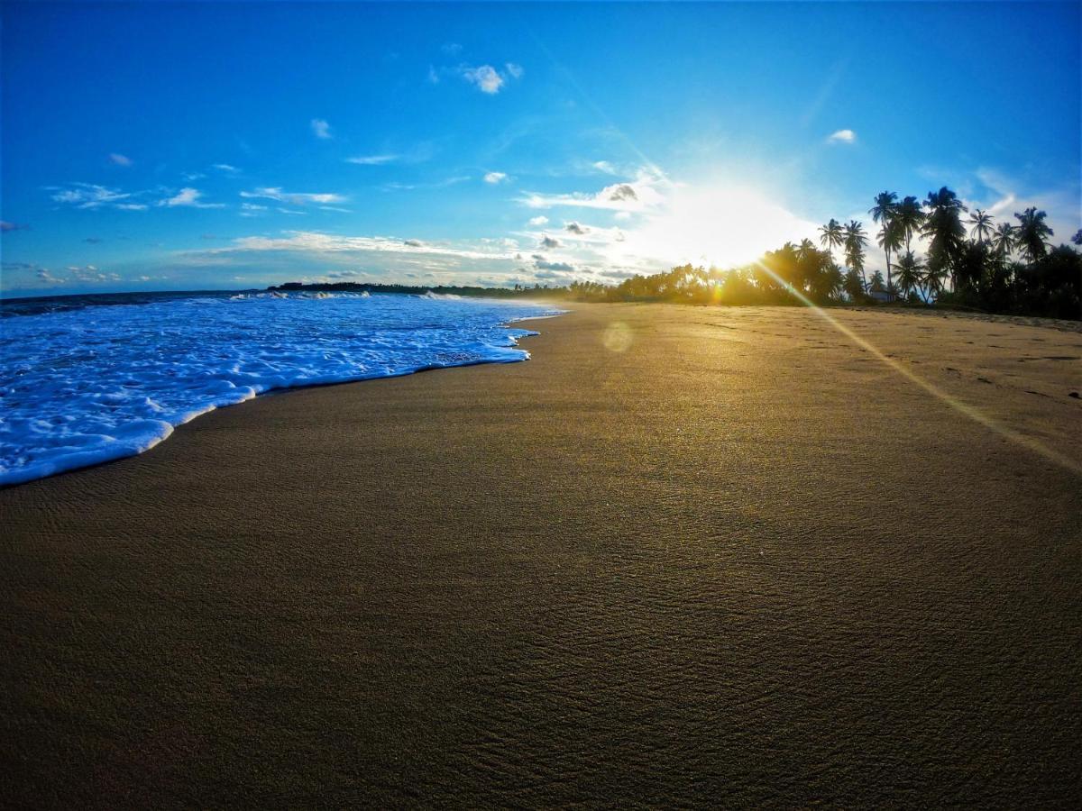
[[[814,223],[755,189],[678,185],[664,211],[635,231],[629,249],[676,264],[727,268],[752,262],[784,242],[814,237],[815,231]]]

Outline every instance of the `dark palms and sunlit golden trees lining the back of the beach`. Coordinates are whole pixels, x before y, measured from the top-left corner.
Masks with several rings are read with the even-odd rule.
[[[869,234],[863,224],[832,218],[819,228],[818,247],[809,239],[787,242],[743,267],[682,265],[615,285],[576,281],[565,290],[580,301],[730,305],[879,301],[1082,317],[1082,255],[1068,244],[1052,248],[1053,231],[1043,211],[1029,208],[1015,213],[1015,223],[997,223],[985,210],[969,212],[944,186],[923,201],[899,200],[896,192],[883,191],[868,213],[878,226],[874,236],[886,260],[885,277],[880,270],[870,277],[866,271]],[[913,250],[914,240],[922,239],[923,255]],[[1082,230],[1071,241],[1082,244]]]

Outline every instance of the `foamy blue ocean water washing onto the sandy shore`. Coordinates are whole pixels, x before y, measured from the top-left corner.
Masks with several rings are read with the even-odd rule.
[[[130,456],[272,389],[503,363],[510,324],[556,315],[492,300],[357,293],[81,296],[0,303],[0,484]]]

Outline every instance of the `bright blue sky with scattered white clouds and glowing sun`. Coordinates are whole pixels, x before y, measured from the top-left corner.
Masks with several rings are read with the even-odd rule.
[[[1078,3],[0,8],[4,295],[612,281],[945,184],[1082,225]]]

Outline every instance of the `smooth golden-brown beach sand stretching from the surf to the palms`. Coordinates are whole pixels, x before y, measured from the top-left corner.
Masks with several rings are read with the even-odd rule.
[[[1082,335],[572,306],[0,492],[3,805],[1078,801]]]

